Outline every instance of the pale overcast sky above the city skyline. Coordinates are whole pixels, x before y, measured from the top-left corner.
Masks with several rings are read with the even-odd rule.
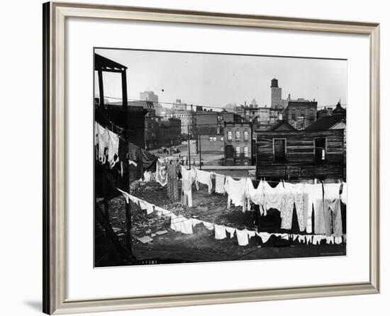
[[[138,50],[96,50],[128,67],[128,98],[154,91],[160,102],[223,107],[227,103],[271,103],[271,79],[282,98],[318,101],[318,107],[347,104],[347,61],[289,57],[213,55]],[[104,95],[121,98],[121,75],[104,73]],[[99,93],[95,72],[95,94]]]

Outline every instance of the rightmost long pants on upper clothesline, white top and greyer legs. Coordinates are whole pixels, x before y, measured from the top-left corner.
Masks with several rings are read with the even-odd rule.
[[[332,234],[332,222],[333,222],[333,234],[335,237],[341,237],[342,235],[342,218],[341,218],[341,205],[340,205],[340,184],[324,184],[324,209],[325,209],[325,227],[326,235]],[[329,213],[329,210],[331,213]]]

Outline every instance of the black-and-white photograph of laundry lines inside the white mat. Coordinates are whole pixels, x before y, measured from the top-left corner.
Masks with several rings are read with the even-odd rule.
[[[347,60],[92,60],[96,268],[347,255]]]

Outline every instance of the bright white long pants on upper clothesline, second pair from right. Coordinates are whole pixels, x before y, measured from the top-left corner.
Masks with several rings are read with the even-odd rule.
[[[323,186],[322,184],[305,184],[304,186],[306,232],[312,232],[312,210],[314,210],[314,232],[325,234],[325,221],[323,211]]]

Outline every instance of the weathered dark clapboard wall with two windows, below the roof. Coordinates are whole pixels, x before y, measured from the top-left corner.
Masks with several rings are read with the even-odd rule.
[[[345,180],[343,142],[344,130],[257,131],[257,179]]]

